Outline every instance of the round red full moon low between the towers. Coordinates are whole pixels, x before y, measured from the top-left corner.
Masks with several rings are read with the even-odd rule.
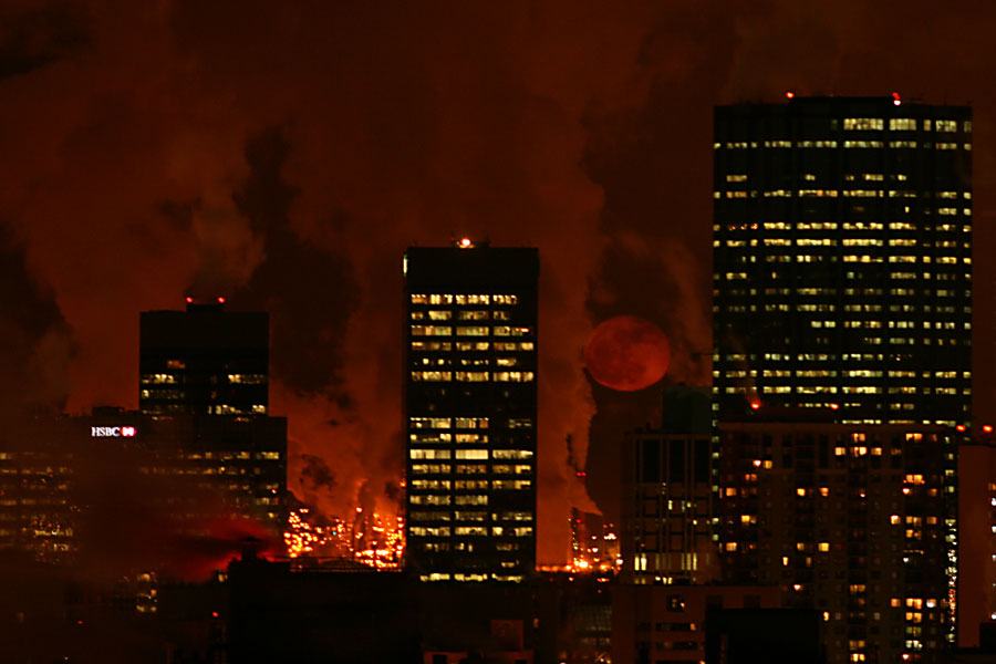
[[[591,377],[620,392],[650,387],[664,377],[670,363],[667,338],[655,324],[635,315],[603,321],[584,346]]]

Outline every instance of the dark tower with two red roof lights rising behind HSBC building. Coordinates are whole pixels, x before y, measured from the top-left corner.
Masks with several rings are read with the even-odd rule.
[[[146,415],[266,415],[269,315],[228,312],[224,298],[144,311],[138,408]]]

